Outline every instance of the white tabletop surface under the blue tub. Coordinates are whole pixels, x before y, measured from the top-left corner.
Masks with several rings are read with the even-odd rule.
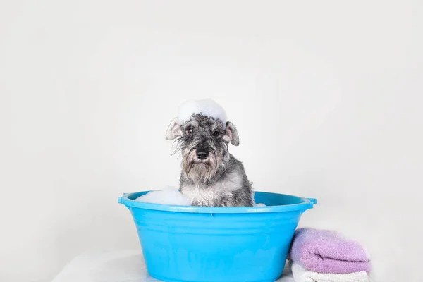
[[[51,282],[157,282],[147,274],[138,250],[85,252],[75,257]],[[285,269],[278,282],[294,282]]]

